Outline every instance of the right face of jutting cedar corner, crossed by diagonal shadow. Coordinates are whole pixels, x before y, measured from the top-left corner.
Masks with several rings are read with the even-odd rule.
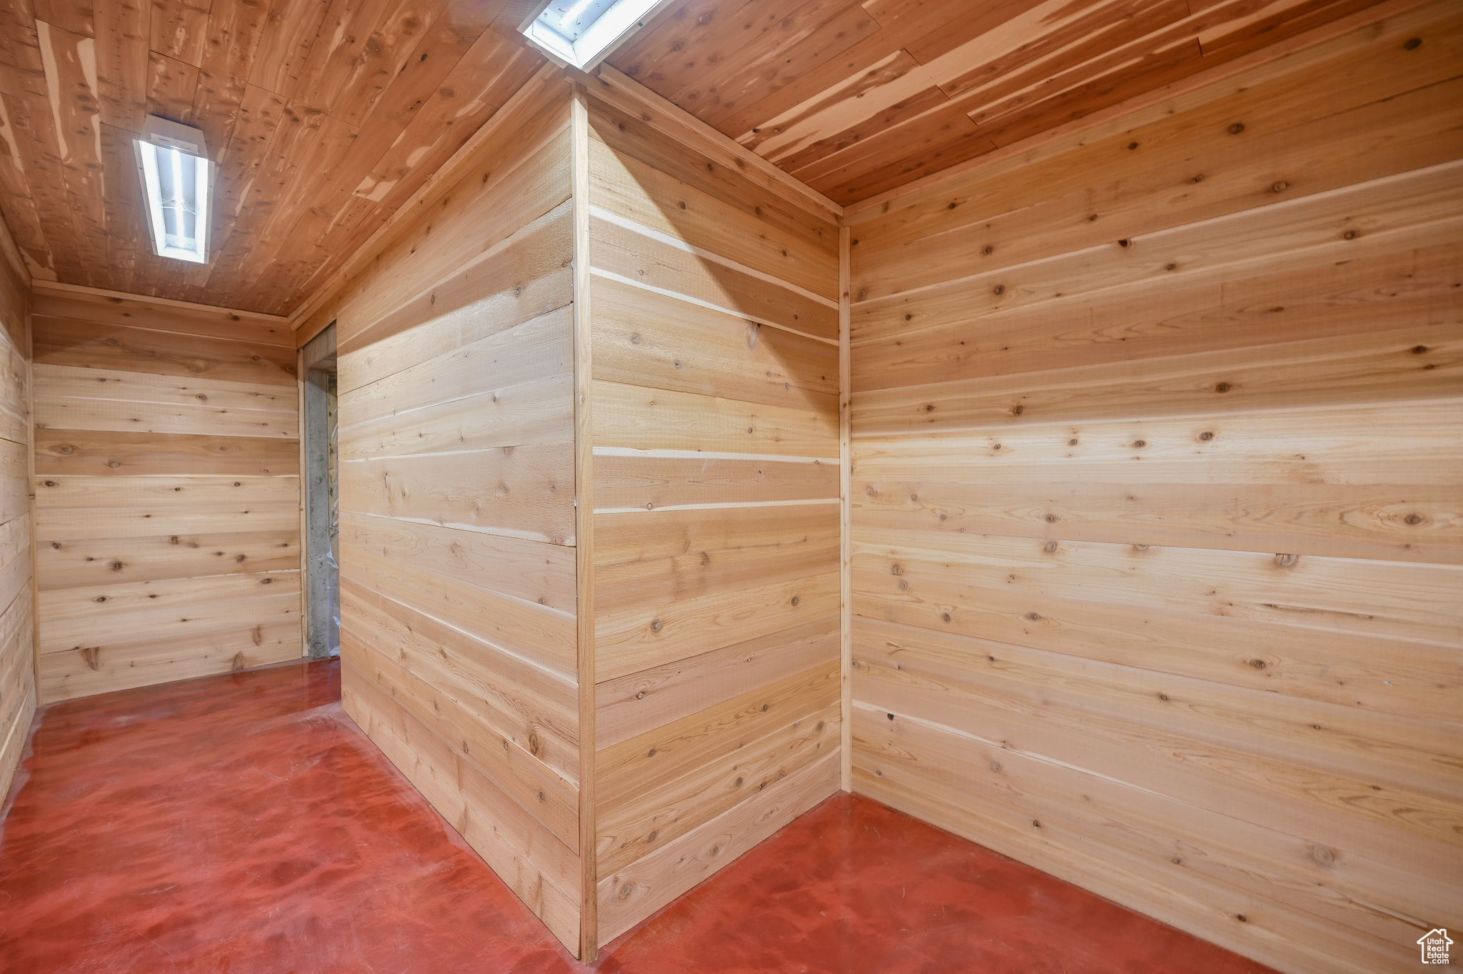
[[[600,94],[590,319],[606,943],[838,790],[838,233],[827,211]]]

